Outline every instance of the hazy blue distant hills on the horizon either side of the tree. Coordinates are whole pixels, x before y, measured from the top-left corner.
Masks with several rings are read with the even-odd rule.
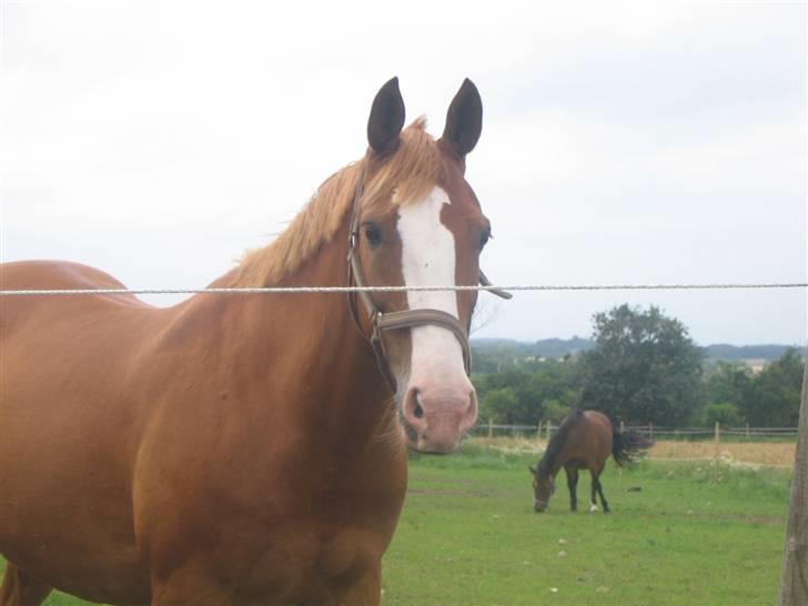
[[[483,355],[516,357],[564,357],[590,350],[595,342],[574,336],[572,339],[542,339],[539,341],[514,341],[511,339],[472,339],[475,352]],[[764,360],[770,362],[780,357],[789,345],[728,345],[719,343],[704,347],[707,357],[728,362],[740,360]],[[802,354],[805,351],[802,349]]]

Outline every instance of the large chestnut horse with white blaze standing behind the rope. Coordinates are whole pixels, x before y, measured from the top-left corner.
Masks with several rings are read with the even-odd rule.
[[[366,284],[476,284],[491,231],[464,179],[477,90],[463,83],[440,140],[403,123],[393,79],[365,156],[214,285],[355,284],[349,241]],[[0,269],[7,291],[121,287],[74,263]],[[448,453],[477,416],[463,355],[476,293],[368,299],[381,316],[430,312],[380,332],[335,294],[0,297],[0,604],[53,587],[127,605],[378,604],[407,445]]]

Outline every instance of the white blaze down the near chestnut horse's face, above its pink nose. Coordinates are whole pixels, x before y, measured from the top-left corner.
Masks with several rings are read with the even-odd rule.
[[[448,194],[435,188],[425,200],[398,209],[402,242],[402,273],[406,286],[443,286],[455,283],[455,241],[441,223],[441,210]],[[411,310],[432,309],[459,319],[454,291],[407,291]],[[459,372],[465,377],[463,350],[457,337],[440,326],[412,329],[410,377],[438,378]]]

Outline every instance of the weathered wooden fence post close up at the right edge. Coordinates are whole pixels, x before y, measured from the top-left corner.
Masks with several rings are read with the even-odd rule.
[[[799,435],[791,475],[791,505],[778,606],[808,604],[808,358],[802,371],[802,402],[797,426]]]

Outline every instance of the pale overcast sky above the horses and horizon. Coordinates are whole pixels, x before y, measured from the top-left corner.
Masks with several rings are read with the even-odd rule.
[[[387,79],[437,135],[469,77],[495,283],[806,281],[804,2],[1,6],[2,261],[203,286],[363,154]],[[475,336],[627,302],[700,344],[806,342],[805,291],[481,301]]]

